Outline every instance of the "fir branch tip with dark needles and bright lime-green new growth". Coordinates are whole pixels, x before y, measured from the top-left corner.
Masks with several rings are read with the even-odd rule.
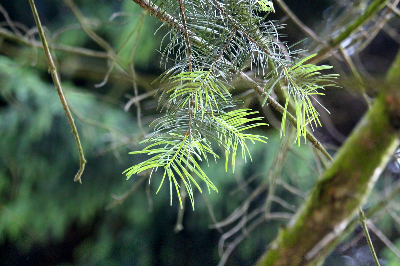
[[[262,117],[255,117],[257,112],[237,108],[238,102],[231,99],[228,85],[232,77],[251,68],[265,79],[268,95],[276,85],[285,88],[288,97],[281,134],[284,135],[286,109],[291,100],[296,106],[300,144],[307,123],[314,121],[314,125],[320,125],[318,111],[312,105],[314,95],[322,95],[317,89],[334,85],[331,80],[335,75],[320,75],[319,71],[331,67],[305,64],[310,58],[299,60],[296,55],[302,51],[290,51],[280,41],[284,36],[278,30],[283,26],[267,18],[275,12],[271,1],[149,3],[150,8],[156,5],[157,12],[169,18],[160,26],[168,29],[163,38],[162,62],[174,62],[159,78],[159,103],[165,115],[152,124],[154,132],[144,141],[148,146],[132,152],[152,157],[124,173],[129,178],[148,169],[152,173],[163,169],[158,190],[168,177],[171,202],[174,187],[182,206],[180,184],[184,184],[193,206],[192,187],[202,191],[199,180],[206,183],[209,191],[217,190],[199,164],[219,158],[213,150],[215,144],[224,150],[226,170],[230,164],[234,171],[238,151],[245,160],[251,159],[249,141],[266,142],[264,136],[246,133],[247,129],[266,124],[259,122]]]

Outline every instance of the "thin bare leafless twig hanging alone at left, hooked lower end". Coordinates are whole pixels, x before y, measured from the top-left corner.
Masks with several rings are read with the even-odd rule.
[[[54,64],[52,55],[50,53],[50,49],[49,46],[47,44],[46,41],[46,36],[44,35],[44,31],[42,28],[42,24],[40,23],[40,19],[39,19],[39,15],[38,15],[38,11],[36,10],[36,6],[33,0],[29,0],[29,4],[30,7],[32,8],[32,14],[35,18],[35,22],[36,22],[36,26],[38,27],[38,32],[39,32],[39,36],[40,39],[42,40],[42,45],[43,45],[43,50],[44,50],[44,54],[46,55],[46,59],[47,59],[47,63],[49,66],[49,72],[52,76],[54,85],[56,86],[57,89],[57,93],[58,93],[58,97],[60,97],[61,103],[62,103],[62,107],[64,108],[64,111],[68,117],[68,121],[71,125],[72,128],[72,134],[74,134],[75,137],[75,141],[76,141],[76,145],[78,146],[78,152],[79,152],[79,159],[80,159],[80,168],[78,173],[75,175],[74,181],[79,181],[79,183],[82,183],[80,177],[82,176],[82,173],[85,169],[85,163],[86,163],[86,159],[83,155],[83,149],[82,149],[82,145],[80,144],[80,139],[79,139],[79,135],[78,135],[78,131],[76,130],[76,126],[74,123],[74,118],[72,117],[71,111],[68,107],[68,103],[65,99],[64,96],[64,92],[62,91],[62,87],[61,87],[61,82],[60,79],[58,78],[58,74],[57,74],[57,68],[56,65]]]

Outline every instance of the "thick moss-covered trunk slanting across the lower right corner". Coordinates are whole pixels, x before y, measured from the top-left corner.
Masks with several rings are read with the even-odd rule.
[[[371,109],[256,265],[322,265],[396,151],[399,129],[400,52]]]

